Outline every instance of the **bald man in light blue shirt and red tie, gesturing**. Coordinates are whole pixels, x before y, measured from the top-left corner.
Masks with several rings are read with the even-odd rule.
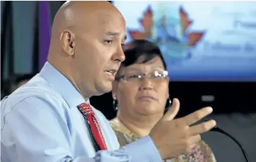
[[[159,162],[190,150],[214,121],[189,127],[211,112],[172,120],[178,100],[150,135],[119,148],[89,97],[111,91],[125,59],[125,21],[107,1],[71,1],[53,21],[48,62],[1,102],[1,161]],[[171,148],[171,149],[170,149]]]

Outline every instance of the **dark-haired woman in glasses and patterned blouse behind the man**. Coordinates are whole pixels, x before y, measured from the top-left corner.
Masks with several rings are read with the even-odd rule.
[[[169,107],[167,66],[159,48],[147,40],[134,40],[124,50],[125,61],[113,82],[113,104],[117,117],[110,121],[120,145],[149,135]],[[201,140],[189,155],[165,161],[214,162],[211,149]]]

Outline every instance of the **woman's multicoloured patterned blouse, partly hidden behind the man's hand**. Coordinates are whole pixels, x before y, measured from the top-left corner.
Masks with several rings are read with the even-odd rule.
[[[118,120],[118,117],[110,120],[110,125],[115,131],[115,135],[118,137],[120,146],[138,140],[138,135],[128,130],[128,128]],[[191,150],[190,155],[183,154],[176,158],[165,160],[165,162],[216,162],[216,159],[211,148],[209,148],[203,140],[200,140]]]

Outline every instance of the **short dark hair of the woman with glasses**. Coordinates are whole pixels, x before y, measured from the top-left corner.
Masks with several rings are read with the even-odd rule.
[[[154,42],[150,42],[149,40],[133,40],[128,45],[125,45],[123,53],[125,54],[125,60],[121,63],[120,69],[123,66],[131,66],[134,63],[146,63],[157,56],[161,58],[164,69],[167,69],[161,50]],[[143,59],[138,62],[138,58],[141,58],[142,56]],[[116,75],[116,80],[118,80],[118,78],[119,76]]]

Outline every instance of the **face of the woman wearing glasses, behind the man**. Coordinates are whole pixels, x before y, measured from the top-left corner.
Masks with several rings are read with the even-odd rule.
[[[138,60],[139,61],[139,60]],[[118,100],[118,109],[124,114],[163,114],[169,98],[169,78],[151,78],[150,73],[163,72],[164,65],[157,56],[146,63],[122,67],[118,76],[138,76],[141,79],[120,79],[113,83],[112,96]]]

